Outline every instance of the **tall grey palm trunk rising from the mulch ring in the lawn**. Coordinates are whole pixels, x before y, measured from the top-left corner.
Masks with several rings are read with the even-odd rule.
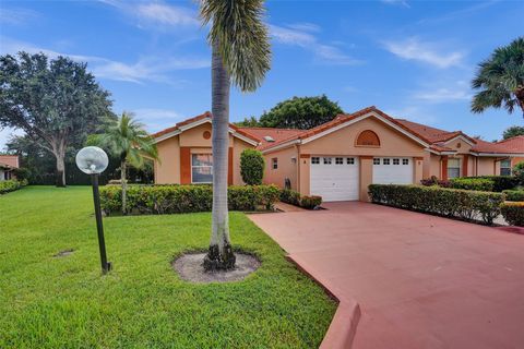
[[[229,242],[227,212],[227,170],[229,148],[229,74],[226,71],[217,45],[212,53],[212,113],[213,113],[213,209],[210,251],[204,258],[206,270],[231,269],[235,254]]]

